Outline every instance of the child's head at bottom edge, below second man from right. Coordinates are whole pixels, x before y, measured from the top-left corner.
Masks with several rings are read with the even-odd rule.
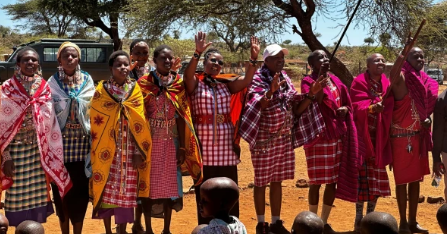
[[[360,222],[361,234],[397,234],[399,229],[396,219],[384,212],[371,212]]]

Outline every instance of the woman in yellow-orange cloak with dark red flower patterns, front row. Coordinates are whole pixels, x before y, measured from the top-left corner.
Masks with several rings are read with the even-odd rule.
[[[149,196],[152,146],[140,86],[129,78],[129,55],[113,52],[109,67],[112,77],[99,82],[90,110],[93,218],[104,219],[107,234],[112,233],[113,215],[118,232],[126,233],[127,223],[134,221],[137,196]]]

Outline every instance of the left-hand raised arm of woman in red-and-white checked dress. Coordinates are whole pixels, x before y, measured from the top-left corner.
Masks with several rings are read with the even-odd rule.
[[[208,46],[212,44],[212,42],[206,43],[206,33],[204,32],[198,32],[197,35],[194,36],[194,39],[196,42],[196,51],[194,52],[194,56],[189,61],[183,75],[186,92],[188,94],[192,94],[199,83],[199,80],[196,78],[195,74],[200,55],[206,50],[206,48],[208,48]]]

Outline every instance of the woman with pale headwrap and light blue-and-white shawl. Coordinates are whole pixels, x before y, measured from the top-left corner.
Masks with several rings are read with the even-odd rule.
[[[48,80],[54,101],[57,120],[62,131],[64,163],[73,182],[73,187],[64,200],[58,188],[51,183],[56,214],[63,234],[82,233],[88,205],[88,177],[90,165],[90,116],[88,109],[95,93],[92,77],[82,71],[79,62],[81,50],[71,42],[64,42],[57,52],[59,71]]]

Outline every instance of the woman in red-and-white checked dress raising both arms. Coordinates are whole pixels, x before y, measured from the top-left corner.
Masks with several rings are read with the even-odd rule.
[[[257,41],[257,40],[252,40]],[[196,74],[200,55],[211,45],[206,42],[206,34],[198,32],[195,36],[196,51],[185,70],[185,88],[191,97],[192,118],[194,128],[200,140],[203,158],[203,181],[214,177],[228,177],[238,182],[237,164],[239,155],[234,149],[234,123],[240,113],[232,112],[237,108],[231,106],[232,94],[244,90],[253,80],[256,66],[246,68],[245,77],[234,80],[219,79],[223,57],[216,49],[209,49],[204,56],[204,72]],[[260,46],[251,45],[251,61],[256,63]],[[240,105],[242,106],[242,105]],[[240,110],[239,110],[240,111]],[[197,215],[199,224],[206,224],[210,220],[200,216],[200,186],[196,186]],[[231,215],[239,217],[239,203],[236,204]]]

